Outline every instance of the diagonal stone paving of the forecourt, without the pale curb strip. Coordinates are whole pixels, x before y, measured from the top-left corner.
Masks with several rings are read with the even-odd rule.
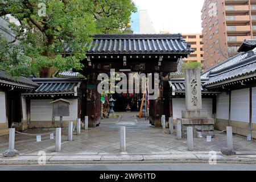
[[[61,152],[55,152],[55,140],[49,134],[42,135],[42,142],[36,136],[15,135],[15,149],[20,155],[36,155],[38,151],[63,155],[113,155],[119,152],[119,127],[126,126],[126,154],[180,154],[187,151],[187,139],[177,140],[176,135],[167,134],[163,129],[155,129],[145,119],[134,116],[117,119],[102,119],[100,127],[81,130],[81,135],[73,133],[73,141],[68,142],[67,128],[63,129]],[[45,131],[28,131],[29,134],[43,134]],[[49,133],[49,132],[47,132]],[[8,148],[9,137],[0,137],[0,154]],[[238,153],[256,154],[256,142],[234,135],[234,150]],[[194,139],[194,151],[220,151],[226,147],[226,134],[216,134],[212,142],[206,138]]]

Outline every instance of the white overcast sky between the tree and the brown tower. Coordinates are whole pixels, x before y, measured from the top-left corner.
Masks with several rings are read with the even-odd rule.
[[[133,0],[139,9],[148,10],[156,33],[201,34],[201,9],[204,0]]]

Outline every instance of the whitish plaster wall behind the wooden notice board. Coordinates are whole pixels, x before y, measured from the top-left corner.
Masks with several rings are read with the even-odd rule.
[[[49,102],[53,100],[31,100],[31,121],[52,121],[52,105]],[[63,121],[76,121],[77,118],[77,99],[71,99],[69,106],[69,117],[63,117]],[[55,121],[59,121],[56,117]]]

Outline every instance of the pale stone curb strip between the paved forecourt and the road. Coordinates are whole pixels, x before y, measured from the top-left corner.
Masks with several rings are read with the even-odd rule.
[[[0,165],[38,165],[37,155],[16,158],[0,156]],[[42,158],[41,158],[42,159]],[[92,163],[209,163],[209,154],[167,155],[47,155],[47,164],[92,164]],[[256,155],[216,155],[217,163],[256,164]]]

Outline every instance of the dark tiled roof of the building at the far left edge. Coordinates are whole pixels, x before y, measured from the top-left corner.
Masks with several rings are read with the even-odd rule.
[[[20,77],[12,77],[8,75],[5,71],[0,71],[0,83],[1,82],[9,82],[10,85],[19,85],[22,88],[36,88],[38,84],[33,82],[30,78],[26,78],[23,76]]]

